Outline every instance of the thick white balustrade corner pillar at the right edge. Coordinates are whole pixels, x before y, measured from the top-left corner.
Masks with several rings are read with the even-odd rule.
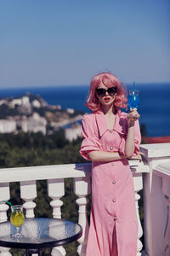
[[[170,255],[170,143],[141,147],[150,168],[144,173],[144,255]],[[165,197],[166,195],[166,197]]]

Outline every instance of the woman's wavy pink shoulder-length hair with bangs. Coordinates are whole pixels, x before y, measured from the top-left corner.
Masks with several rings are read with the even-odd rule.
[[[99,73],[94,76],[90,84],[90,90],[88,93],[88,99],[85,105],[96,112],[100,109],[100,102],[95,96],[95,90],[99,87],[99,84],[105,84],[106,87],[116,86],[116,98],[114,106],[116,108],[127,108],[127,90],[124,84],[120,83],[116,76],[112,73]]]

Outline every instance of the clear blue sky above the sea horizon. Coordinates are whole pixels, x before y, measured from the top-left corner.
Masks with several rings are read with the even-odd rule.
[[[0,88],[170,82],[169,0],[0,0]]]

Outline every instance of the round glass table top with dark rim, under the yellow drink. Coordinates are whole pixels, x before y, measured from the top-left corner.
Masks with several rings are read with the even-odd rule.
[[[54,247],[76,241],[82,236],[82,227],[60,218],[26,218],[20,226],[20,238],[13,234],[13,224],[0,224],[0,246],[16,248]]]

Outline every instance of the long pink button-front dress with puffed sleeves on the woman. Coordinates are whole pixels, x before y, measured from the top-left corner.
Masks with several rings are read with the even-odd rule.
[[[135,122],[135,151],[141,141],[139,121]],[[90,151],[118,151],[124,154],[127,113],[116,113],[110,130],[104,113],[82,117],[80,154],[90,160]],[[92,163],[92,209],[86,256],[136,256],[138,221],[133,176],[127,159]]]

